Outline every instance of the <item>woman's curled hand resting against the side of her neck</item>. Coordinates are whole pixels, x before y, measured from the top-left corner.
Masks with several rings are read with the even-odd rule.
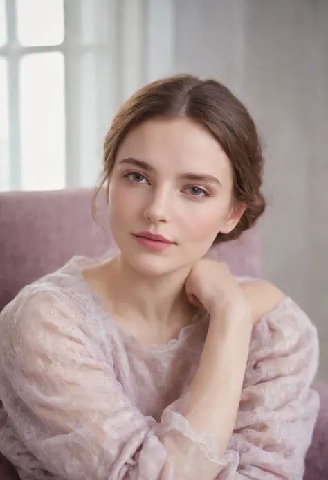
[[[190,303],[202,305],[210,318],[239,317],[252,321],[250,304],[226,263],[202,258],[185,282]]]

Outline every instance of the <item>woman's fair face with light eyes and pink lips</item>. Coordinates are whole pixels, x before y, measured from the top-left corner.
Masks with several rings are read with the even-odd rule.
[[[157,276],[191,267],[239,217],[230,161],[204,127],[156,118],[127,134],[109,180],[109,220],[134,269]]]

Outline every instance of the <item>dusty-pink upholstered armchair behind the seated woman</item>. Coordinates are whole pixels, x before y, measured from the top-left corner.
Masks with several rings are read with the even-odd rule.
[[[100,223],[104,202],[99,204]],[[89,190],[0,194],[0,311],[17,292],[71,256],[98,256],[110,247],[111,236],[91,217]],[[261,246],[255,231],[215,247],[235,274],[261,276]],[[328,387],[315,384],[321,409],[306,460],[306,480],[328,479]],[[12,466],[0,456],[0,480],[17,480]]]

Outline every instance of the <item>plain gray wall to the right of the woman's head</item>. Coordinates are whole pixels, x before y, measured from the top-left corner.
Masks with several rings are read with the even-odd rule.
[[[244,100],[266,156],[266,278],[318,326],[328,380],[328,1],[176,0],[175,71]]]

